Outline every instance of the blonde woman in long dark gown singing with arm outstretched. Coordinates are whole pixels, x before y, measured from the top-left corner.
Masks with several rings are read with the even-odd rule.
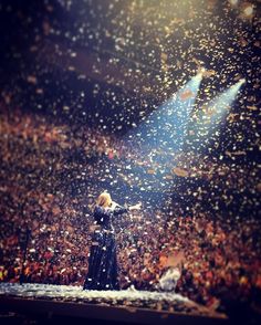
[[[93,213],[95,230],[92,235],[84,290],[119,290],[115,232],[112,221],[115,216],[139,208],[140,203],[123,208],[112,201],[108,192],[100,195]]]

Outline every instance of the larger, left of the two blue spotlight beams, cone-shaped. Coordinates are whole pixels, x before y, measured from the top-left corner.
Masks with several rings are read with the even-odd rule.
[[[182,149],[184,138],[202,74],[194,76],[166,103],[130,133],[152,149],[174,153]]]

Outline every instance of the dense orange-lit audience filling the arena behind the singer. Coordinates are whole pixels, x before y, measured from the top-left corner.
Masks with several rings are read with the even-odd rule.
[[[124,189],[123,196],[132,187],[145,187],[142,177],[156,162],[146,156],[144,164],[137,147],[114,136],[72,130],[43,116],[1,115],[0,132],[0,280],[19,282],[23,272],[23,281],[30,283],[82,285],[96,196],[106,188]],[[218,197],[219,187],[227,202],[233,199],[229,190],[241,187],[246,193],[254,178],[248,174],[246,180],[242,170],[230,172],[225,162],[178,155],[180,165],[173,159],[167,172],[174,169],[171,177],[203,179],[212,192],[202,185],[195,192],[188,187],[187,197],[181,197],[192,199],[187,211],[171,200],[159,207],[142,198],[142,211],[114,221],[121,286],[156,290],[168,260],[181,253],[178,293],[215,307],[232,298],[252,303],[261,289],[260,221],[233,211],[222,216],[220,202],[209,196]],[[125,175],[127,164],[134,184]],[[136,167],[140,170],[135,174]],[[145,177],[146,181],[154,180]],[[215,202],[216,214],[203,209],[206,199],[209,207]]]

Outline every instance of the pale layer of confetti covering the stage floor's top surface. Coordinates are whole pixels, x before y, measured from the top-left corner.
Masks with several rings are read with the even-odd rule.
[[[29,300],[51,300],[59,302],[101,304],[126,308],[149,308],[158,312],[177,312],[192,315],[225,317],[209,311],[179,294],[136,290],[83,291],[81,286],[50,284],[0,284],[0,297],[14,296]]]

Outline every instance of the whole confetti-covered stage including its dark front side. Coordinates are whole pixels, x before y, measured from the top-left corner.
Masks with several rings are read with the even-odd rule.
[[[1,314],[19,313],[36,321],[85,319],[109,324],[227,324],[225,314],[212,312],[175,293],[83,291],[80,286],[0,284]],[[65,318],[64,318],[65,317]],[[40,322],[41,323],[41,322]]]

